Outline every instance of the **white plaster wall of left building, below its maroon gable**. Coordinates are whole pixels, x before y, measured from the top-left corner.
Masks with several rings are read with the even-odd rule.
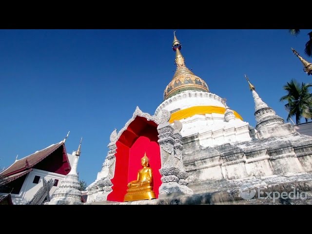
[[[38,184],[33,183],[35,176],[40,176]],[[45,178],[46,181],[49,181],[49,179],[52,178],[53,182],[54,179],[59,180],[58,186],[53,186],[52,189],[50,190],[50,195],[52,195],[55,192],[55,190],[59,187],[64,177],[65,176],[57,173],[33,169],[30,173],[27,174],[25,181],[20,189],[20,194],[18,195],[11,194],[13,204],[15,205],[26,204],[28,201],[30,201],[37,193],[37,191],[43,186],[42,178]]]

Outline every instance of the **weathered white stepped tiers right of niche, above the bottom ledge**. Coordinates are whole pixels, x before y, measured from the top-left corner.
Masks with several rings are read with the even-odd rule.
[[[182,142],[186,180],[195,194],[220,192],[231,188],[233,181],[251,178],[273,177],[267,182],[279,184],[281,176],[304,174],[307,181],[312,180],[312,137],[271,137],[214,148],[202,148],[198,136],[182,138]]]

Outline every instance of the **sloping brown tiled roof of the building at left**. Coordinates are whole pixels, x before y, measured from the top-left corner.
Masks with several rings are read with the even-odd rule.
[[[34,154],[21,158],[20,160],[16,160],[11,166],[9,166],[6,170],[0,173],[1,176],[11,176],[16,175],[20,172],[27,171],[28,169],[33,168],[36,164],[42,161],[47,156],[51,155],[54,151],[62,147],[64,142],[61,141],[57,144],[50,145],[49,147],[36,151]],[[66,155],[67,156],[67,155]],[[69,160],[67,157],[68,164]]]

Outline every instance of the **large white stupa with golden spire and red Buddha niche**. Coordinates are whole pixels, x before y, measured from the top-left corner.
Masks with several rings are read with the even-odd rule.
[[[137,107],[112,132],[86,204],[312,204],[259,198],[311,193],[312,137],[284,123],[246,75],[256,126],[243,121],[187,68],[175,34],[172,47],[176,73],[163,102],[154,115]]]

